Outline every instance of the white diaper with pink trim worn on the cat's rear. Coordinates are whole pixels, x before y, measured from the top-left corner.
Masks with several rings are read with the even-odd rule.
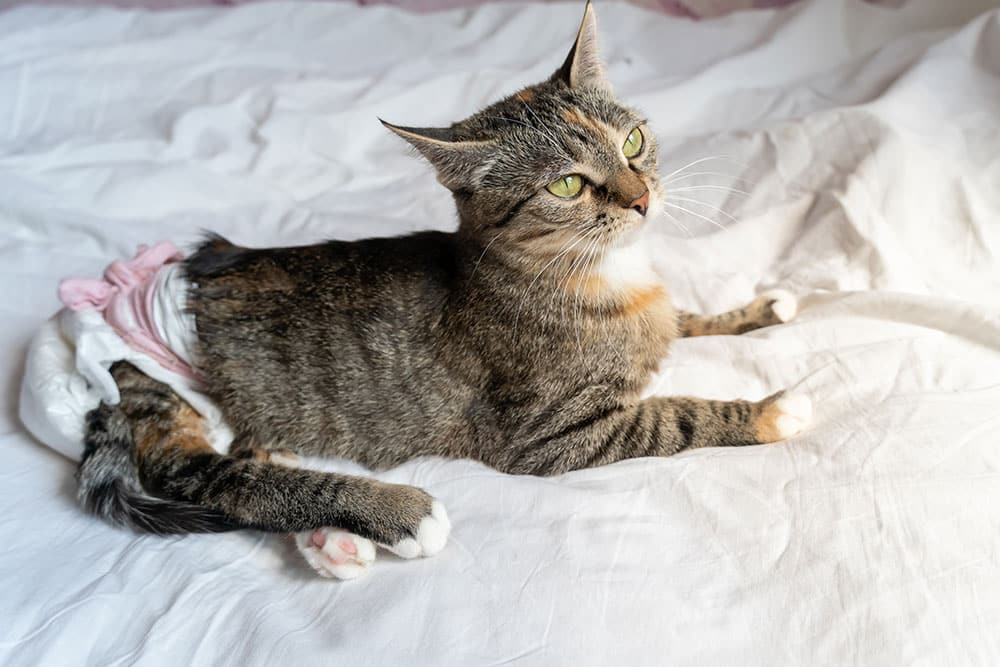
[[[79,460],[87,413],[121,400],[109,368],[128,361],[187,401],[204,418],[212,447],[228,451],[232,432],[193,363],[197,334],[181,259],[169,242],[140,246],[101,279],[60,284],[65,307],[32,338],[21,384],[21,421],[38,440]]]

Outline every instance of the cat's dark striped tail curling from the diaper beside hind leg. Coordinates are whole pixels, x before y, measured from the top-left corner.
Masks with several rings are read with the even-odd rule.
[[[88,511],[120,526],[158,535],[219,533],[245,528],[217,510],[146,495],[135,441],[121,408],[102,404],[87,415],[77,497]]]

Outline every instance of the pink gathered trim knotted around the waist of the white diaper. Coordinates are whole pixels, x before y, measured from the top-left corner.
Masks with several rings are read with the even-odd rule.
[[[147,354],[167,370],[194,379],[183,359],[160,339],[153,321],[153,298],[159,271],[184,259],[173,243],[139,246],[135,257],[112,262],[104,279],[68,278],[59,284],[59,299],[70,310],[98,310],[132,349]]]

